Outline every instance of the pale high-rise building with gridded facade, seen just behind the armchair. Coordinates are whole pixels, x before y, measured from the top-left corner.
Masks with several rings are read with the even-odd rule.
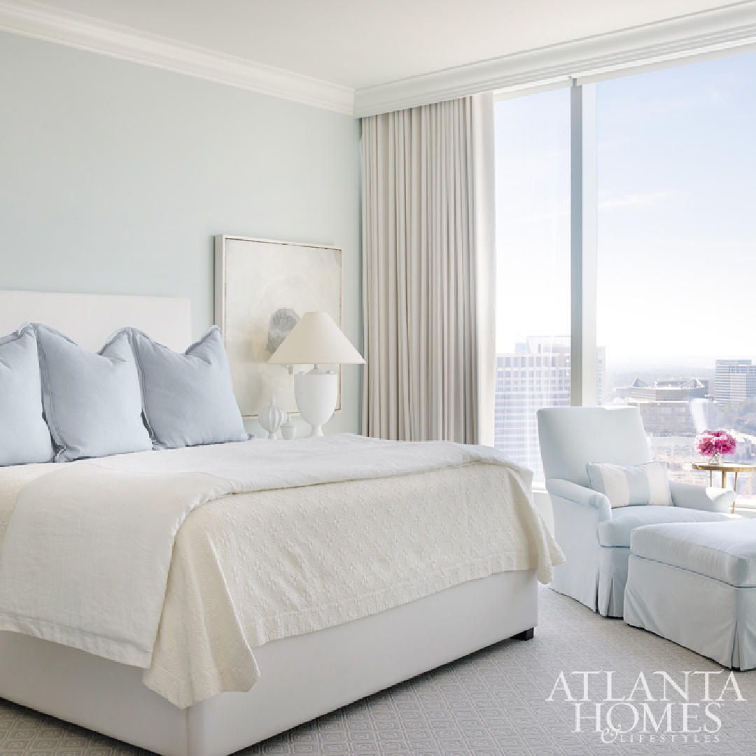
[[[603,404],[605,348],[596,353],[596,396]],[[541,407],[569,407],[569,336],[528,336],[514,352],[496,355],[494,446],[543,479],[538,420]]]

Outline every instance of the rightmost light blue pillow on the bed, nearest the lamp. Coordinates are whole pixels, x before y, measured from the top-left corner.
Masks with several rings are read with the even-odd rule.
[[[221,331],[212,326],[183,355],[132,329],[144,418],[153,446],[246,441]]]

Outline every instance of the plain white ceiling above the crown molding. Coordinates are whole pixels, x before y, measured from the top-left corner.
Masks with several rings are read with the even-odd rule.
[[[361,89],[733,4],[721,0],[47,0],[44,5]]]

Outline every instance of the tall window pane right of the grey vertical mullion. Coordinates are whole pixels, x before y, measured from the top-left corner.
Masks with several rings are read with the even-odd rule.
[[[703,484],[697,432],[756,451],[756,54],[600,83],[596,144],[606,401],[639,407],[671,478]]]

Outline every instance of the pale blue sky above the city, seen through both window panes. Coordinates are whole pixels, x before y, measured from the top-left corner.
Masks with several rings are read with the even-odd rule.
[[[608,363],[756,360],[756,54],[596,85]],[[569,90],[496,112],[497,351],[569,333]]]

